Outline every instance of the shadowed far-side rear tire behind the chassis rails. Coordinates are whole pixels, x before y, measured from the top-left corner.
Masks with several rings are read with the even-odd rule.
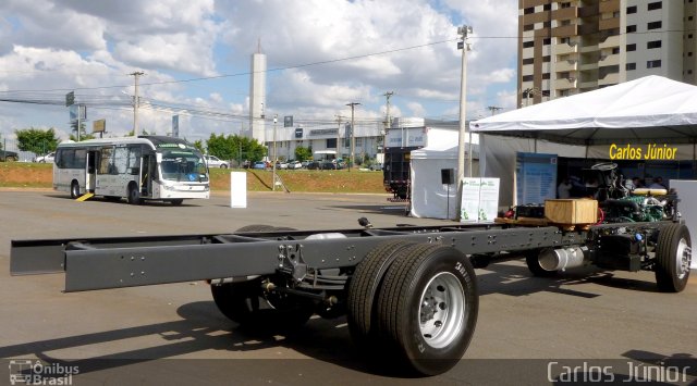
[[[247,225],[236,232],[295,231],[271,225]],[[245,327],[298,327],[315,313],[315,303],[302,297],[276,292],[265,295],[261,278],[210,286],[213,301],[231,321]]]

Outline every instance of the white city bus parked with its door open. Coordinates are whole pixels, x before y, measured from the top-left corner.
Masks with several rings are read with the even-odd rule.
[[[209,198],[208,169],[201,153],[183,139],[163,136],[90,139],[60,144],[53,189],[72,198],[91,192],[130,203]]]

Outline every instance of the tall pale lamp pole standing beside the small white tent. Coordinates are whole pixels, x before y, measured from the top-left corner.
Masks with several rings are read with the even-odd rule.
[[[460,217],[462,211],[462,180],[465,176],[465,136],[467,135],[467,35],[472,33],[472,27],[463,25],[457,28],[461,40],[457,41],[457,48],[462,50],[462,73],[460,74],[460,137],[457,140],[457,213],[455,219]],[[472,138],[469,138],[469,164],[467,176],[472,177]]]

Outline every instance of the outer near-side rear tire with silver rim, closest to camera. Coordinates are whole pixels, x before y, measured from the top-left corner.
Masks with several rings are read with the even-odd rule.
[[[398,369],[437,375],[452,369],[467,350],[478,308],[475,272],[464,253],[414,245],[388,270],[377,319],[402,362]]]

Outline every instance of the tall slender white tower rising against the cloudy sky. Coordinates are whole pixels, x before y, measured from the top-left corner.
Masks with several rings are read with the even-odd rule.
[[[249,134],[248,136],[266,144],[266,54],[261,53],[261,42],[257,52],[252,54],[252,76],[249,77]]]

